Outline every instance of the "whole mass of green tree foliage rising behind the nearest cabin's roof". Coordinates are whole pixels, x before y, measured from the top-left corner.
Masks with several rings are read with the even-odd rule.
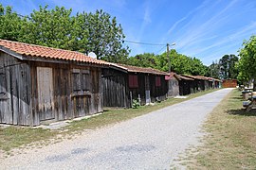
[[[26,17],[0,4],[0,39],[27,42],[50,47],[94,52],[98,59],[126,62],[129,49],[123,47],[125,38],[116,17],[96,10],[77,13],[64,7],[40,7]]]

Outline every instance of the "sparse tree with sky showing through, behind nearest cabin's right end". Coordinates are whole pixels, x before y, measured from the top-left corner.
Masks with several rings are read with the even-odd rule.
[[[122,27],[116,17],[96,10],[96,13],[80,13],[81,25],[88,31],[88,43],[84,52],[93,51],[99,57],[112,62],[125,63],[129,54],[129,48],[122,47],[125,38]]]

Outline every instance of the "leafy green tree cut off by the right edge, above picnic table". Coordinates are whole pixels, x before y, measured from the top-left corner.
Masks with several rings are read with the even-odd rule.
[[[239,80],[253,80],[253,91],[256,91],[256,36],[251,36],[243,42],[243,48],[239,52]]]

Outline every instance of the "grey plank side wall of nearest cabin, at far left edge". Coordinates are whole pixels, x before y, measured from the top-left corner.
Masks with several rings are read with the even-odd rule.
[[[29,67],[5,53],[0,53],[1,97],[0,123],[29,125]]]

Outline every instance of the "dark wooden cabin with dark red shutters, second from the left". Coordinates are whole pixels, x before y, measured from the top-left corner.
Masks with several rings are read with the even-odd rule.
[[[152,68],[112,64],[102,71],[103,106],[130,108],[134,99],[141,105],[165,100],[167,75]]]

